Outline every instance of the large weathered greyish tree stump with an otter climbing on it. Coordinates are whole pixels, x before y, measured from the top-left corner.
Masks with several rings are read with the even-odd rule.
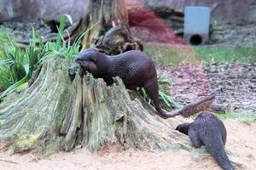
[[[72,59],[49,56],[26,90],[0,104],[0,141],[15,152],[72,150],[81,144],[99,150],[102,144],[149,150],[191,149],[175,131],[177,119],[163,120],[137,93],[115,79],[107,86],[90,76],[68,77]]]

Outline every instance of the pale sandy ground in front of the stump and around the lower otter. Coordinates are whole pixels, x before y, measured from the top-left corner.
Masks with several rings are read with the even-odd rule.
[[[256,167],[256,123],[246,124],[236,120],[225,120],[228,130],[226,148],[247,167]],[[91,154],[88,150],[76,149],[71,152],[59,152],[51,156],[0,154],[1,170],[79,170],[79,169],[211,169],[220,170],[212,157],[201,157],[195,161],[186,150],[160,153],[147,150],[119,151],[118,147],[103,149]]]

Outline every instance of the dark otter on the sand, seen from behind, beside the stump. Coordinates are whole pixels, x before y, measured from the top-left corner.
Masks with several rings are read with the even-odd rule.
[[[185,122],[176,127],[181,133],[189,135],[195,148],[206,145],[207,151],[215,158],[224,170],[234,170],[224,150],[226,144],[226,128],[216,116],[210,112],[202,112],[194,122]]]

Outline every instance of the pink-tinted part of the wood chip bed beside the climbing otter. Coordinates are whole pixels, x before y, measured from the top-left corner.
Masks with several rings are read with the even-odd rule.
[[[187,105],[210,94],[210,83],[204,65],[183,64],[177,68],[160,65],[172,80],[172,94],[180,105]]]

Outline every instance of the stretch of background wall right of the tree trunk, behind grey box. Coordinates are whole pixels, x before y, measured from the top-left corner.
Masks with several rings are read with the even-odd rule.
[[[256,23],[256,0],[126,0],[142,2],[150,6],[169,6],[183,10],[186,6],[206,6],[212,8],[212,21],[232,23]]]

